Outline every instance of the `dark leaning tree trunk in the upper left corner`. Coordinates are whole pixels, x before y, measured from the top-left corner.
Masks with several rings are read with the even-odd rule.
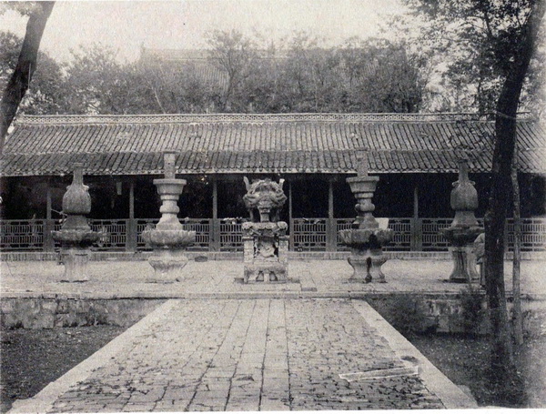
[[[15,71],[5,86],[0,104],[0,155],[4,149],[7,129],[12,124],[17,108],[25,96],[35,73],[38,48],[44,34],[45,23],[55,2],[36,2],[35,10],[28,17],[25,40],[15,66]]]

